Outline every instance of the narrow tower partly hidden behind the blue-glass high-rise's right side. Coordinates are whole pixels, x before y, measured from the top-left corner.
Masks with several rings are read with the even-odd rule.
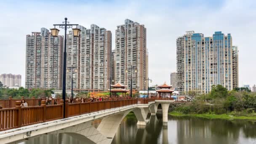
[[[239,74],[238,74],[238,48],[232,46],[232,75],[233,75],[233,88],[239,87]]]

